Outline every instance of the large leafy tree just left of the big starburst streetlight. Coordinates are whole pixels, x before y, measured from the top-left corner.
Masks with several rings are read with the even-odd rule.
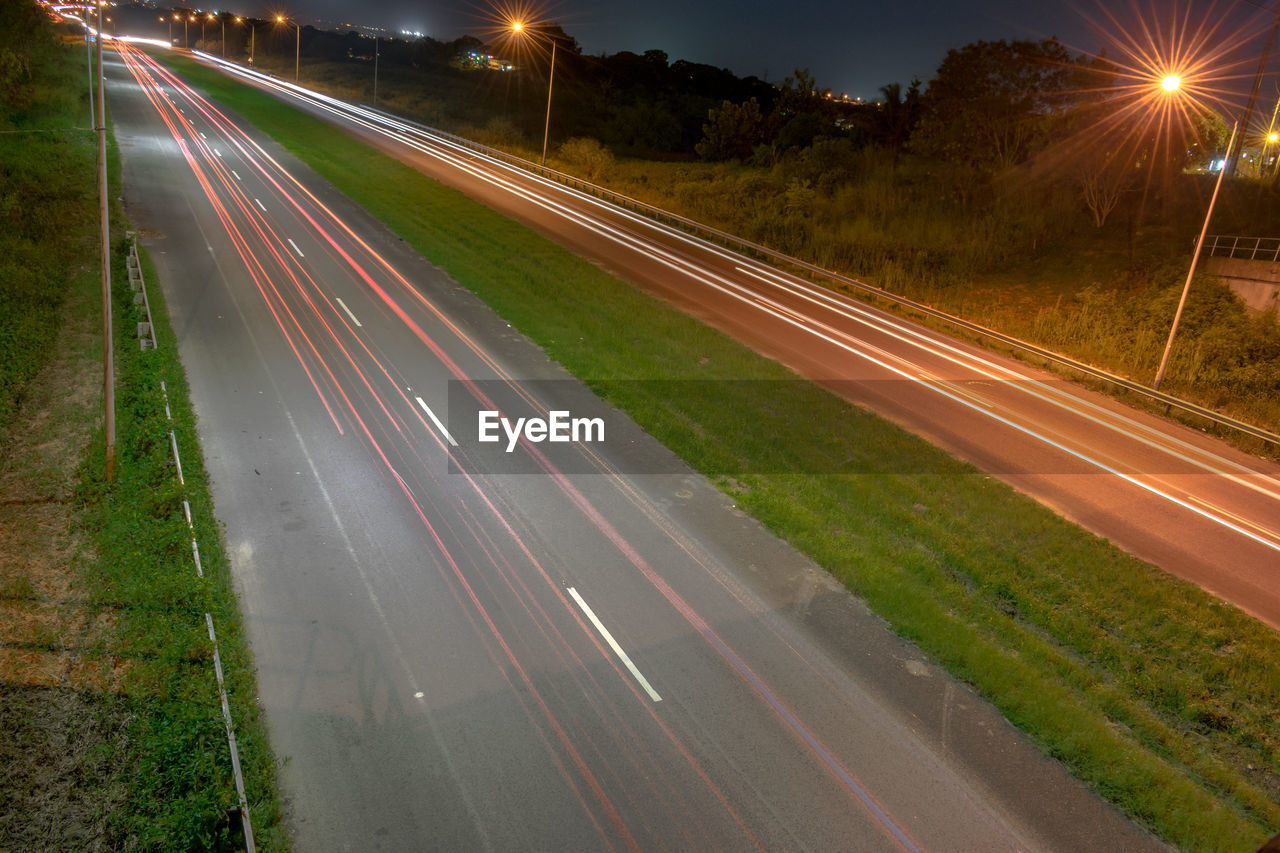
[[[947,51],[911,134],[919,154],[1007,169],[1051,138],[1069,104],[1070,54],[1057,40],[979,41]]]

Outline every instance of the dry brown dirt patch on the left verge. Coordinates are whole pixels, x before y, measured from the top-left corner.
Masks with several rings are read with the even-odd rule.
[[[128,703],[101,654],[113,613],[76,585],[76,467],[101,419],[101,366],[81,305],[0,442],[0,849],[108,849],[123,803]]]

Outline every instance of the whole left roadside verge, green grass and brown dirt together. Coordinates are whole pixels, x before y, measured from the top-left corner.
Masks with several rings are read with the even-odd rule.
[[[140,351],[119,240],[111,259],[118,461],[115,482],[104,480],[96,142],[83,129],[84,51],[60,47],[33,4],[32,17],[9,13],[10,35],[29,51],[31,97],[0,110],[0,128],[27,131],[0,136],[0,799],[13,806],[0,818],[0,848],[236,849],[227,808],[237,797],[209,612],[259,849],[284,849],[274,758],[174,336],[151,273],[160,346]],[[110,173],[115,199],[114,143]],[[113,234],[125,227],[114,209]],[[170,461],[170,429],[186,488]]]

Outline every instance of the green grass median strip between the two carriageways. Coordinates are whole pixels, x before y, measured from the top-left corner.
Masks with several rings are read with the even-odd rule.
[[[794,377],[521,225],[180,58],[273,134],[812,555],[904,637],[1162,838],[1247,850],[1280,826],[1280,637],[803,382],[768,398],[626,379]],[[810,437],[804,444],[780,434]],[[931,471],[905,475],[900,471]]]

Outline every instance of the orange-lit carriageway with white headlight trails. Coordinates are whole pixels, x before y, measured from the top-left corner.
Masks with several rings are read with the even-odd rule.
[[[1280,628],[1280,466],[447,136],[228,68]]]

